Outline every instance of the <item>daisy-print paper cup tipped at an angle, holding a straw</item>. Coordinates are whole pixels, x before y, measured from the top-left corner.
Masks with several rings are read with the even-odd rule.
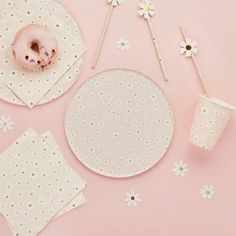
[[[229,122],[235,107],[216,98],[200,95],[190,133],[190,142],[212,150]]]

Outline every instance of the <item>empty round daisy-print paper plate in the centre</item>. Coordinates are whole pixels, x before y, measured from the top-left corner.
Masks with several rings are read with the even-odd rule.
[[[147,171],[164,156],[174,120],[165,94],[152,80],[116,69],[80,87],[68,107],[65,131],[87,168],[123,178]]]

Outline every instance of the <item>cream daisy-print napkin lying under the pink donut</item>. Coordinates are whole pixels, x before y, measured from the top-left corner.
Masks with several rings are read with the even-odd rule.
[[[47,26],[59,41],[57,63],[42,73],[23,71],[14,61],[12,42],[23,26]],[[29,107],[35,106],[80,59],[85,47],[76,21],[53,0],[19,0],[1,22],[0,80]],[[26,89],[27,88],[27,89]]]

